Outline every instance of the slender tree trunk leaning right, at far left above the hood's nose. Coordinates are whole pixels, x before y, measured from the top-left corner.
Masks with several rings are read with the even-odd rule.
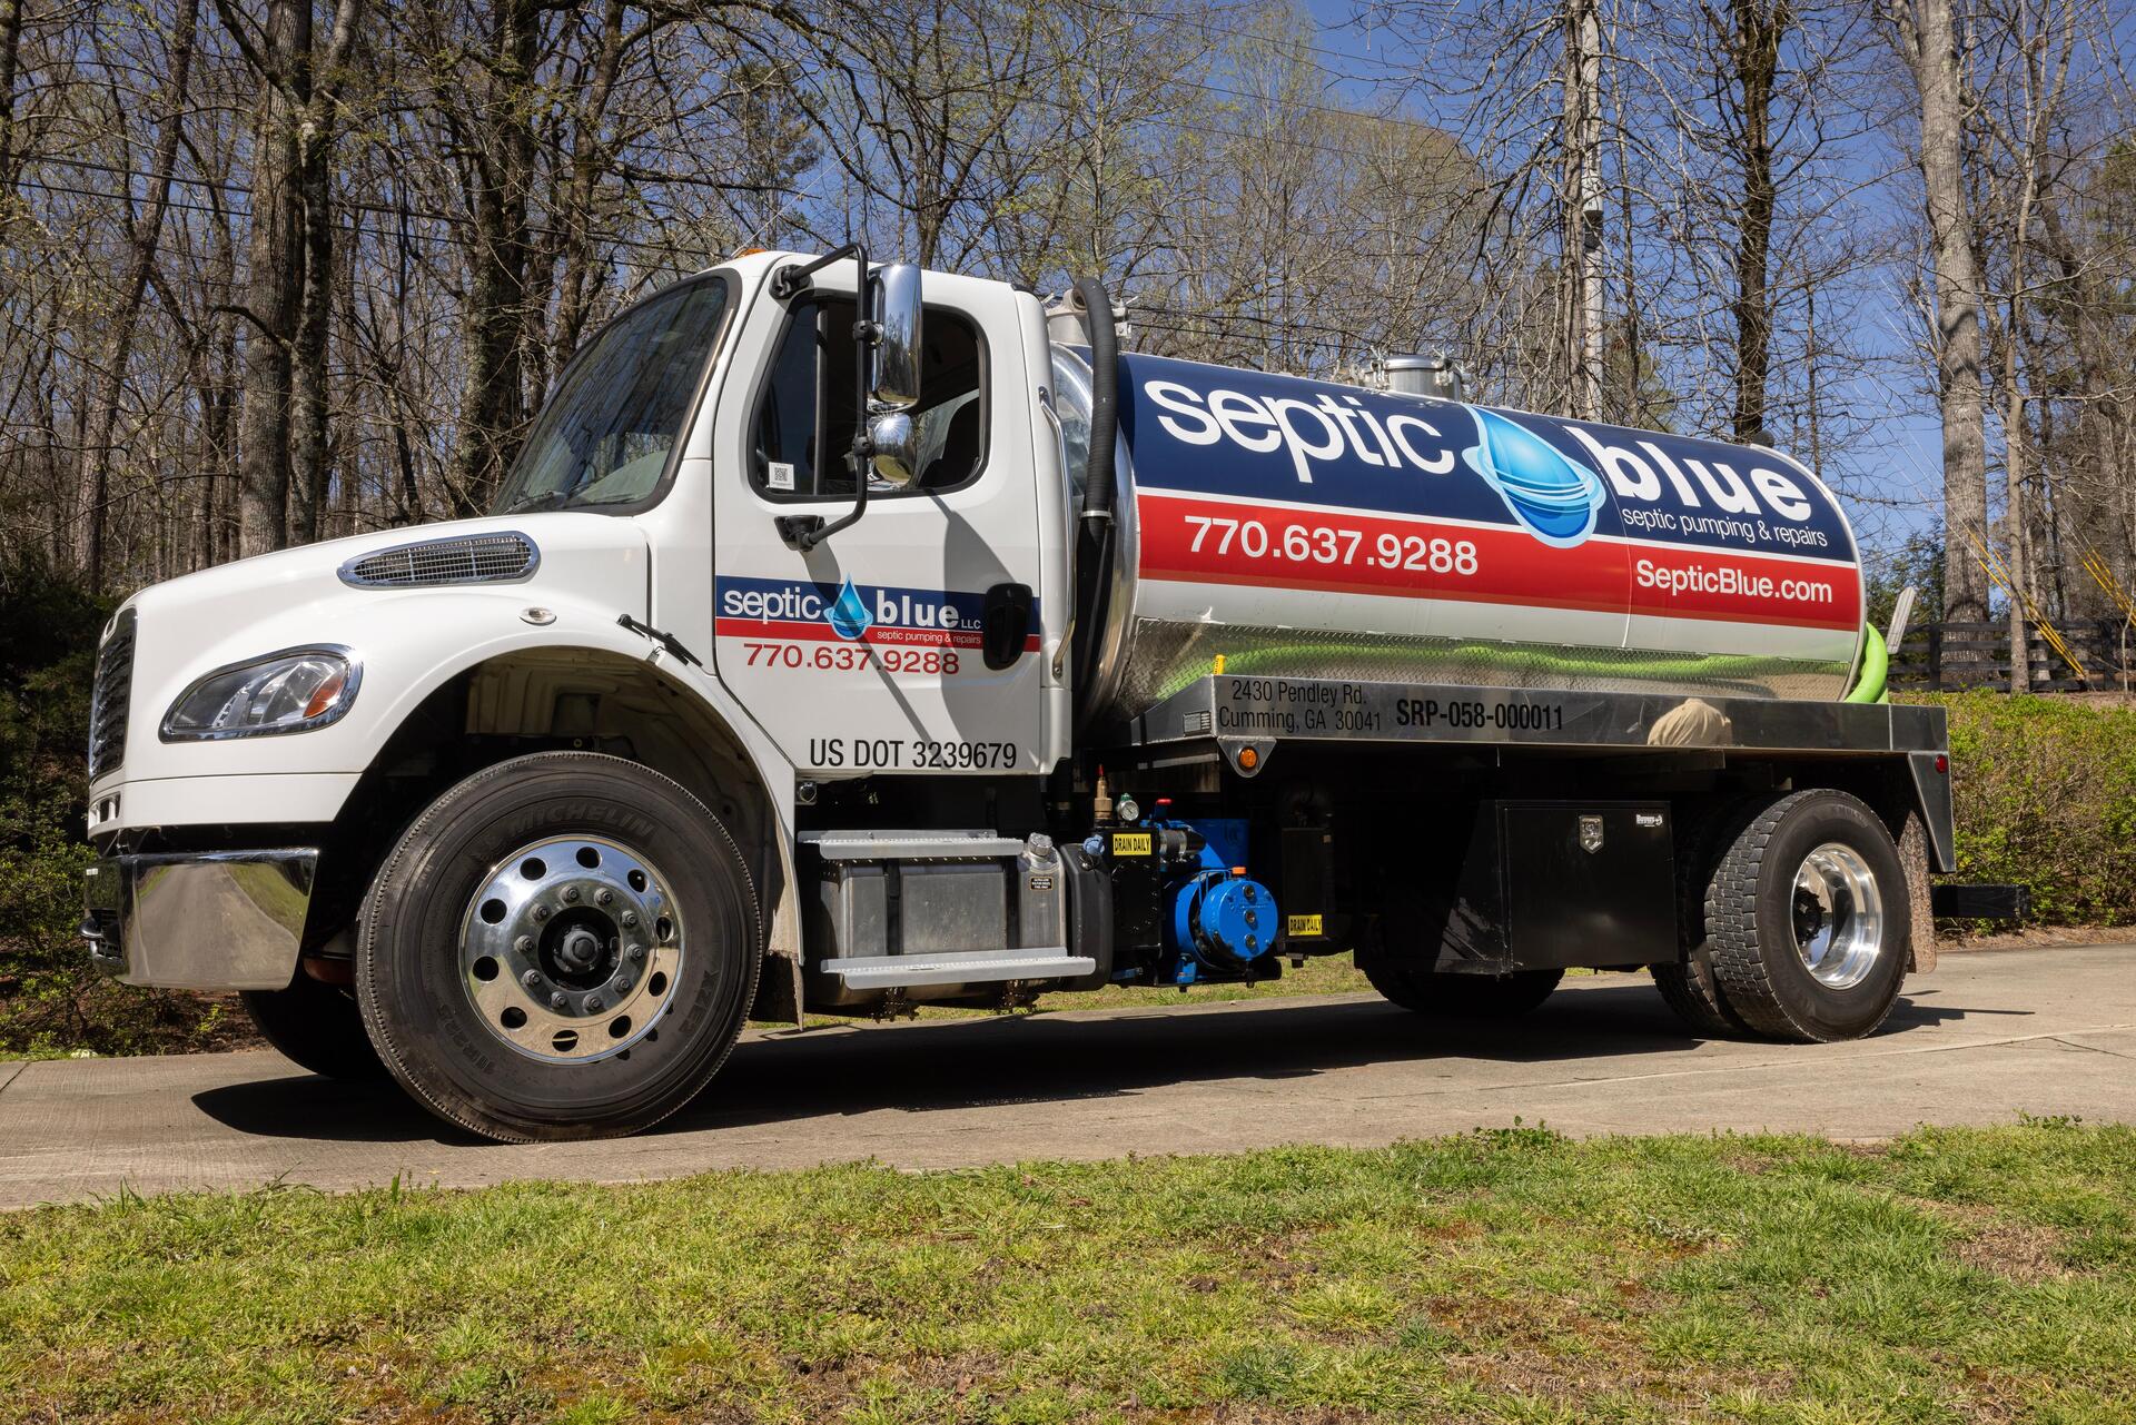
[[[81,496],[79,560],[92,594],[105,592],[105,506],[111,502],[111,432],[126,395],[126,363],[132,359],[135,329],[141,325],[141,301],[147,278],[162,246],[162,216],[171,207],[171,169],[177,165],[179,130],[186,122],[186,75],[192,71],[192,36],[199,26],[199,0],[179,0],[171,30],[169,103],[156,152],[150,158],[147,205],[132,224],[126,276],[120,278],[117,308],[105,329],[98,353],[96,391],[90,397],[81,449],[75,455],[75,489]]]

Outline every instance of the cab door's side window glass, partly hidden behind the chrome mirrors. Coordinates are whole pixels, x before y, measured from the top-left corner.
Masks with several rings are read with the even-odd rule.
[[[978,474],[987,457],[985,374],[978,329],[955,312],[929,310],[921,342],[921,402],[912,408],[921,434],[914,489],[955,489]],[[756,408],[750,481],[760,494],[854,494],[846,459],[852,449],[852,299],[797,301]],[[874,489],[889,487],[878,483]]]

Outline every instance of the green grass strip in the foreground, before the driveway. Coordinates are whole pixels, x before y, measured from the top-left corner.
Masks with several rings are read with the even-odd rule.
[[[11,1421],[2127,1421],[2136,1130],[126,1199]]]

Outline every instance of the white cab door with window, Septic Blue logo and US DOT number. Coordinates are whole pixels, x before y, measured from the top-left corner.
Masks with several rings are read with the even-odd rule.
[[[778,519],[833,521],[854,504],[852,265],[786,301],[765,291],[739,346],[758,370],[737,370],[720,397],[713,660],[812,776],[1040,771],[1038,504],[1017,308],[1000,284],[925,282],[918,476],[874,483],[865,517],[812,551],[782,538]]]

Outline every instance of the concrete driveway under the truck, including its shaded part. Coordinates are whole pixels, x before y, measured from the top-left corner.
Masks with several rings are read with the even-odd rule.
[[[391,1087],[276,1053],[0,1064],[0,1207],[175,1188],[634,1181],[854,1158],[1384,1145],[1525,1122],[1564,1132],[1878,1139],[2019,1113],[2136,1119],[2136,944],[1946,955],[1852,1045],[1687,1038],[1645,976],[1570,981],[1514,1025],[1376,996],[750,1034],[713,1087],[613,1143],[502,1147]]]

